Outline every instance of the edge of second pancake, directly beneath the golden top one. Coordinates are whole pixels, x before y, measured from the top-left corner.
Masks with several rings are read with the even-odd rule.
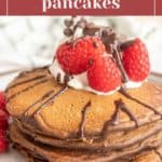
[[[15,122],[17,127],[28,136],[32,137],[35,141],[42,143],[44,145],[54,146],[57,148],[67,148],[67,149],[80,149],[80,150],[119,150],[125,147],[135,145],[136,143],[140,143],[144,139],[149,138],[150,136],[157,134],[162,131],[162,121],[159,120],[157,122],[152,122],[147,125],[143,125],[138,129],[124,131],[124,132],[112,132],[109,133],[107,139],[105,140],[93,140],[82,143],[81,139],[76,140],[62,140],[54,137],[49,137],[45,135],[41,135],[36,133],[35,130],[27,129],[21,122]],[[106,146],[107,145],[107,146]]]

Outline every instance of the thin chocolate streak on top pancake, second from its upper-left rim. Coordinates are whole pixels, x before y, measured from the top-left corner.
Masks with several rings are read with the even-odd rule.
[[[13,98],[16,97],[17,95],[19,95],[19,94],[22,94],[22,93],[24,93],[24,92],[26,92],[26,91],[29,91],[30,89],[32,89],[32,87],[35,87],[35,86],[38,86],[38,85],[40,85],[40,84],[42,84],[42,83],[45,83],[45,82],[48,82],[48,81],[49,81],[48,78],[42,79],[42,80],[40,80],[40,81],[33,83],[32,85],[29,85],[29,86],[27,86],[26,89],[16,92],[15,94],[11,95],[11,96],[8,98],[8,102],[11,100],[11,99],[13,99]]]

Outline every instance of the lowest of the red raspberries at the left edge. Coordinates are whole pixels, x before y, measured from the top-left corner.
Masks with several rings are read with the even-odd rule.
[[[9,143],[5,138],[5,133],[3,131],[0,131],[0,153],[3,153],[8,150]]]

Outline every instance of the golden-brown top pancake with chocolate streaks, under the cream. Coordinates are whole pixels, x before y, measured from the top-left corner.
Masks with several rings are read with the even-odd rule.
[[[162,112],[162,85],[145,82],[140,87],[127,92],[156,111]],[[48,68],[21,73],[11,82],[5,95],[8,110],[13,117],[58,138],[78,138],[81,131],[86,136],[100,135],[112,119],[117,110],[114,102],[119,99],[126,105],[138,124],[161,118],[119,92],[102,96],[60,85]],[[127,113],[120,111],[120,120],[107,129],[112,131],[135,126],[136,122]]]

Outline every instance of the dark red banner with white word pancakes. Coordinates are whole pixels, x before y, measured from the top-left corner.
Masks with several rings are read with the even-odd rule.
[[[162,0],[0,0],[2,15],[6,1],[9,15],[162,15]]]

